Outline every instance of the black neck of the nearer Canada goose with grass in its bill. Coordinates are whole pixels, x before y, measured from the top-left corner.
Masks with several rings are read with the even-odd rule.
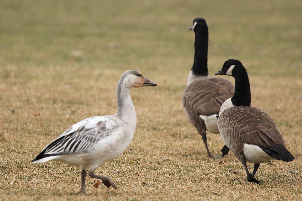
[[[231,98],[234,105],[251,105],[251,87],[249,84],[249,76],[246,69],[243,68],[241,73],[233,76],[235,79],[235,93]]]

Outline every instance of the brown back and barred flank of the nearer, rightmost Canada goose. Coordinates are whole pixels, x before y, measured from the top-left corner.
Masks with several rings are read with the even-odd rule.
[[[218,127],[226,146],[238,159],[244,144],[273,148],[281,144],[286,148],[280,130],[263,110],[252,106],[234,106],[224,110],[218,118]]]

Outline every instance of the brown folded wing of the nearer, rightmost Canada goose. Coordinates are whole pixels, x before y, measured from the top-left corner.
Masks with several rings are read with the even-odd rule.
[[[265,111],[252,106],[235,106],[223,111],[222,115],[229,129],[239,132],[243,143],[264,148],[273,148],[277,144],[286,147],[280,130]],[[231,128],[232,125],[236,129]]]

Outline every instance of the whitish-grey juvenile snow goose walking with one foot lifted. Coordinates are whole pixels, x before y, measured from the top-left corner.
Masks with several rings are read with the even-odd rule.
[[[49,143],[32,160],[33,163],[49,160],[69,165],[81,165],[81,193],[85,193],[86,170],[92,178],[101,179],[106,187],[116,185],[107,176],[94,174],[103,162],[120,155],[129,146],[136,127],[136,113],[130,96],[131,87],[156,86],[139,71],[126,71],[117,83],[117,113],[115,115],[86,118],[69,127]]]

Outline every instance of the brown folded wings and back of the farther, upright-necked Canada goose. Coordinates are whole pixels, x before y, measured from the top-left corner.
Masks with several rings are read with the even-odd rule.
[[[226,99],[234,95],[235,86],[228,80],[212,77],[191,83],[184,92],[183,105],[193,105],[198,115],[218,114]]]

